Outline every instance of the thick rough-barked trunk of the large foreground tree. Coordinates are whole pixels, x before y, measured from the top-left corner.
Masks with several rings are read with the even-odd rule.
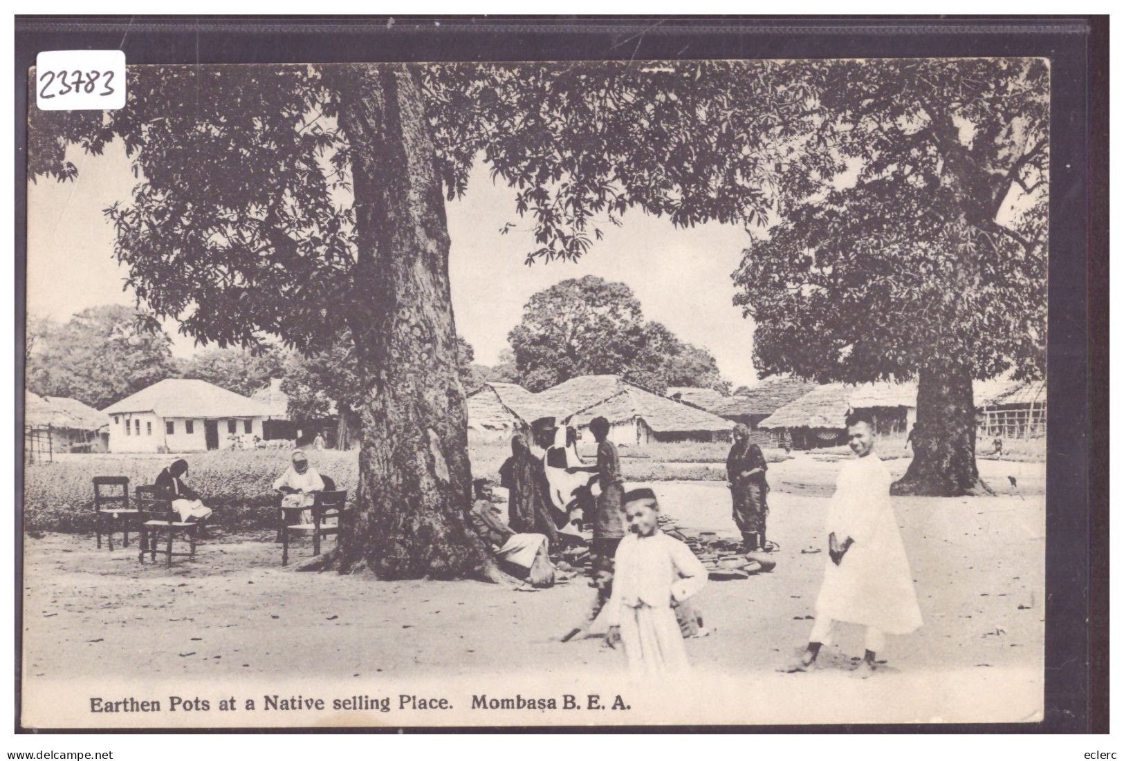
[[[487,563],[468,528],[464,392],[445,202],[418,83],[404,65],[334,72],[351,146],[359,255],[348,303],[361,383],[354,515],[336,563],[381,578],[456,578]]]

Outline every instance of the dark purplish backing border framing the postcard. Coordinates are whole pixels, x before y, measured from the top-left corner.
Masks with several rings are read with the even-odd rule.
[[[40,51],[83,48],[121,48],[129,64],[584,58],[1050,58],[1044,721],[1040,724],[1009,725],[864,725],[853,730],[842,726],[772,726],[755,727],[754,731],[1108,731],[1107,17],[395,17],[391,20],[387,17],[296,16],[199,19],[182,16],[17,16],[17,504],[21,504],[22,494],[27,74]],[[16,511],[15,516],[16,595],[17,599],[21,599],[20,511]],[[17,606],[16,731],[22,732],[19,726],[22,609],[21,604]],[[709,727],[664,727],[661,731],[687,728],[710,731]],[[724,728],[715,727],[714,731]],[[740,730],[734,727],[734,731]]]

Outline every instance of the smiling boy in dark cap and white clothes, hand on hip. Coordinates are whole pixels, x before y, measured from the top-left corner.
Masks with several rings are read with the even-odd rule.
[[[690,548],[660,531],[652,489],[633,489],[624,503],[632,533],[617,547],[607,640],[624,645],[634,678],[682,671],[687,648],[671,605],[706,585],[706,568]]]

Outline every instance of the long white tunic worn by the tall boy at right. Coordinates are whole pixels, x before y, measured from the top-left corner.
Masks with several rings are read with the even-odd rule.
[[[906,634],[922,625],[913,574],[890,504],[889,470],[871,452],[843,464],[827,510],[825,534],[851,548],[826,559],[816,615]],[[824,538],[825,543],[827,538]]]

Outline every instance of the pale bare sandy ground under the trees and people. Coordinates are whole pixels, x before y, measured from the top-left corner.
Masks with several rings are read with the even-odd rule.
[[[714,630],[709,638],[687,643],[699,672],[716,679],[758,675],[761,684],[796,685],[792,695],[798,695],[809,679],[845,673],[851,657],[861,654],[862,632],[842,627],[837,644],[825,649],[826,668],[819,673],[780,672],[812,626],[826,554],[801,550],[819,543],[839,464],[801,453],[770,467],[769,535],[780,545],[778,566],[744,580],[711,581],[696,598]],[[895,475],[907,465],[904,459],[888,462]],[[890,638],[880,653],[886,676],[871,681],[958,673],[968,680],[961,689],[972,691],[972,680],[995,682],[995,675],[1003,673],[991,685],[997,695],[1014,689],[1009,680],[1018,681],[1018,689],[1041,689],[1045,468],[998,461],[981,461],[980,468],[999,495],[896,499],[925,625],[912,635]],[[1018,492],[1007,476],[1017,478]],[[681,529],[737,535],[723,483],[652,486]],[[297,554],[310,552],[310,547],[300,548]],[[171,569],[162,560],[139,565],[135,544],[110,553],[97,550],[92,537],[27,539],[28,694],[36,694],[37,684],[45,688],[66,681],[250,685],[284,678],[359,684],[457,675],[616,673],[623,667],[622,655],[602,640],[559,641],[591,602],[583,578],[533,593],[474,581],[384,583],[282,569],[280,556],[271,532],[201,544],[194,560],[173,559]],[[909,689],[924,694],[927,688]],[[918,718],[936,715],[946,716]]]

